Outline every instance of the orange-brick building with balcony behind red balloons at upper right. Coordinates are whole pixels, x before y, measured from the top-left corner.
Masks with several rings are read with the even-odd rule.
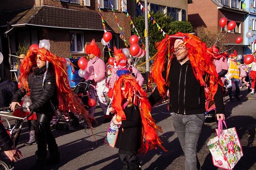
[[[225,29],[222,29],[221,35],[225,34],[224,46],[226,49],[235,46],[229,52],[236,49],[238,53],[244,54],[248,44],[245,44],[244,41],[240,44],[235,42],[237,37],[244,38],[244,18],[249,12],[242,8],[243,3],[238,0],[194,0],[193,2],[188,5],[188,21],[191,22],[192,26],[194,28],[203,26],[213,32],[220,32],[220,18],[227,18],[228,23],[235,21],[237,26],[225,34],[226,26]]]

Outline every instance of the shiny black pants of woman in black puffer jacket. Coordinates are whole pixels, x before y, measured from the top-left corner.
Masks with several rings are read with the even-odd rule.
[[[38,157],[47,156],[47,145],[50,154],[58,153],[58,146],[50,128],[52,117],[53,114],[37,113],[36,138]]]

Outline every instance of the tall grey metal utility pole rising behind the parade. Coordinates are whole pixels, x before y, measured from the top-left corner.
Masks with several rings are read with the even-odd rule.
[[[144,1],[145,4],[145,30],[144,30],[144,37],[146,43],[146,61],[149,61],[149,22],[147,20],[147,0]],[[149,77],[149,62],[146,62],[146,78]],[[148,79],[146,79],[146,83]]]

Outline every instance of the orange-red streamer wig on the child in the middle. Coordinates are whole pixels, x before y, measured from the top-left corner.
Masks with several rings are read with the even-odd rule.
[[[122,84],[124,84],[125,95],[122,95]],[[142,145],[139,150],[141,153],[146,153],[149,149],[156,148],[156,145],[160,146],[164,151],[166,149],[161,146],[161,140],[157,136],[157,131],[163,133],[161,127],[157,126],[155,120],[151,117],[151,106],[149,100],[147,99],[146,92],[141,88],[139,83],[137,83],[134,76],[131,74],[124,74],[119,79],[117,79],[114,89],[114,98],[112,102],[112,107],[116,110],[116,119],[118,122],[125,120],[125,113],[122,108],[122,101],[124,98],[128,100],[129,103],[134,103],[140,108],[140,116],[142,119],[142,134],[141,138]],[[128,103],[128,106],[129,106]]]

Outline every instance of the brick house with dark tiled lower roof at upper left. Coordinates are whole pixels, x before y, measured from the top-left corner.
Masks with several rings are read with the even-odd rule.
[[[128,0],[130,3],[135,3]],[[50,41],[50,51],[60,57],[85,56],[85,45],[95,38],[102,49],[101,58],[107,61],[109,50],[101,43],[105,31],[112,33],[111,48],[125,47],[120,34],[131,36],[130,22],[124,12],[126,0],[17,0],[0,2],[0,51],[4,61],[0,65],[1,80],[9,79],[9,63],[16,61],[19,44],[38,44],[41,39]],[[117,24],[116,17],[119,21]],[[101,12],[101,16],[100,16]],[[122,31],[120,27],[122,28]]]

